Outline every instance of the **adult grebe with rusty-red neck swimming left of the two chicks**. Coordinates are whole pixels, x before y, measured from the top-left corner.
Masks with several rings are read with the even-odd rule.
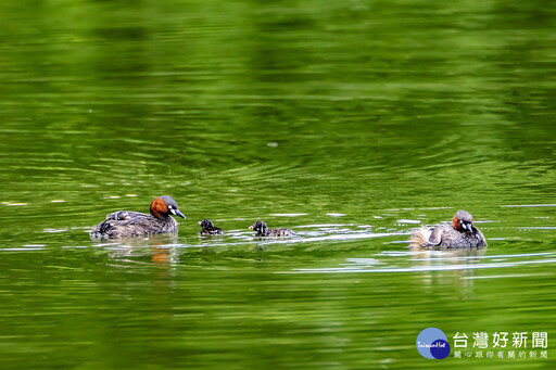
[[[152,201],[150,212],[150,215],[130,210],[109,214],[104,221],[92,228],[91,239],[135,238],[177,232],[178,222],[170,215],[186,218],[176,201],[168,195]]]

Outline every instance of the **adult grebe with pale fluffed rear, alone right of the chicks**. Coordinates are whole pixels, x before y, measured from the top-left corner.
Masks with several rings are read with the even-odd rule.
[[[432,229],[422,227],[412,233],[412,248],[471,248],[486,246],[482,232],[473,225],[472,216],[458,210],[452,218],[452,225],[441,224]]]

